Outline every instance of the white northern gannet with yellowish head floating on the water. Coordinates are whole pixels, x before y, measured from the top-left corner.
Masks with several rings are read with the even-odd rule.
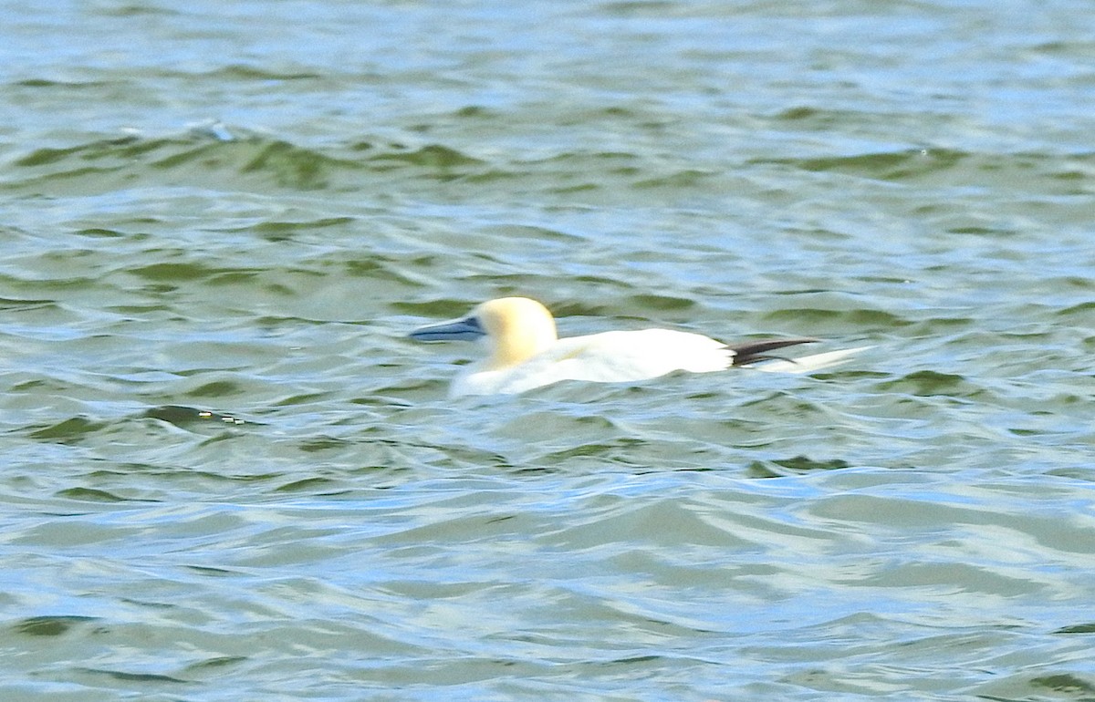
[[[805,372],[831,365],[862,350],[820,353],[796,362],[766,354],[817,339],[765,339],[727,346],[699,334],[670,329],[603,331],[560,339],[552,314],[528,297],[484,302],[460,319],[415,329],[411,338],[419,341],[486,338],[489,355],[457,375],[449,397],[517,394],[560,381],[646,381],[673,371],[708,373],[760,361],[779,366],[771,370]],[[810,360],[808,364],[802,363]]]

